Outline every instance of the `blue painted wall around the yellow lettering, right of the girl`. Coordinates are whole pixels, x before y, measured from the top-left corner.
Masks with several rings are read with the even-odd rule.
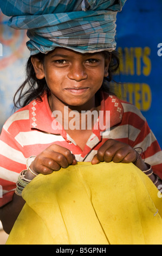
[[[127,48],[145,47],[150,48],[151,72],[145,76],[120,74],[115,76],[116,81],[126,83],[146,83],[151,89],[151,106],[146,111],[140,109],[146,117],[148,125],[151,127],[155,137],[157,137],[160,147],[162,147],[162,56],[158,56],[158,44],[162,43],[162,1],[127,0],[121,13],[117,14],[116,21],[116,43],[124,50]],[[162,53],[162,50],[161,50]],[[125,52],[122,55],[125,58]],[[136,65],[134,59],[134,66]],[[145,63],[140,59],[141,70]],[[140,92],[139,92],[140,93]],[[147,95],[146,95],[147,96]],[[122,97],[122,95],[121,95]],[[125,98],[124,98],[125,99]],[[128,97],[127,97],[127,99]],[[133,102],[135,105],[135,102]]]

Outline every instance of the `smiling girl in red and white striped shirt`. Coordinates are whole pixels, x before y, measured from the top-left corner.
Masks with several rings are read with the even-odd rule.
[[[81,11],[78,15],[80,13],[85,15],[86,12]],[[86,29],[83,30],[86,33]],[[83,161],[94,165],[103,161],[132,162],[149,176],[155,186],[162,184],[161,149],[145,118],[136,107],[106,92],[106,78],[109,77],[110,81],[112,72],[119,66],[112,51],[114,42],[106,51],[106,46],[96,45],[92,51],[82,52],[71,47],[70,39],[67,47],[54,44],[53,50],[51,47],[47,50],[46,45],[50,46],[51,40],[47,43],[47,39],[42,39],[45,40],[44,54],[37,53],[36,48],[41,52],[43,47],[37,46],[38,35],[33,38],[34,33],[33,29],[28,45],[32,54],[27,64],[27,80],[18,89],[20,97],[17,101],[15,95],[15,106],[19,103],[22,108],[7,120],[1,134],[4,194],[0,218],[7,233],[25,204],[21,197],[23,188],[40,173],[48,175]],[[79,41],[81,46],[82,40]],[[60,113],[61,116],[57,117]],[[89,126],[86,113],[90,113],[90,124],[94,125]],[[77,117],[75,122],[74,115]]]

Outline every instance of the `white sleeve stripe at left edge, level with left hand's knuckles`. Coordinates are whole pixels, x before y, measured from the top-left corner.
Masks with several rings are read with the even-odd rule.
[[[25,164],[27,159],[25,159],[24,155],[21,151],[11,148],[8,144],[5,144],[3,141],[0,141],[0,154],[8,157],[9,159]]]

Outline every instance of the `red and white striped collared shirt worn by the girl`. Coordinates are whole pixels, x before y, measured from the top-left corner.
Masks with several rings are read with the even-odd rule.
[[[147,121],[131,103],[119,100],[114,95],[101,92],[103,120],[110,113],[109,127],[96,124],[83,150],[64,129],[54,129],[56,123],[46,94],[42,101],[31,101],[6,121],[0,137],[0,206],[12,200],[18,174],[26,169],[31,155],[38,155],[55,143],[68,148],[77,161],[91,161],[101,145],[109,138],[141,147],[145,162],[152,165],[154,173],[162,179],[162,151]],[[96,122],[99,123],[100,116]],[[58,126],[59,127],[59,126]]]

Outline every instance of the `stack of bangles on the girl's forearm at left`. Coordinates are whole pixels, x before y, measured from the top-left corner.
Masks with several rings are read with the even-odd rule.
[[[31,181],[25,178],[26,173],[27,173],[27,170],[22,170],[22,172],[18,175],[18,180],[16,182],[16,190],[15,190],[15,194],[17,194],[17,196],[22,196],[22,191],[24,187],[27,186]]]

